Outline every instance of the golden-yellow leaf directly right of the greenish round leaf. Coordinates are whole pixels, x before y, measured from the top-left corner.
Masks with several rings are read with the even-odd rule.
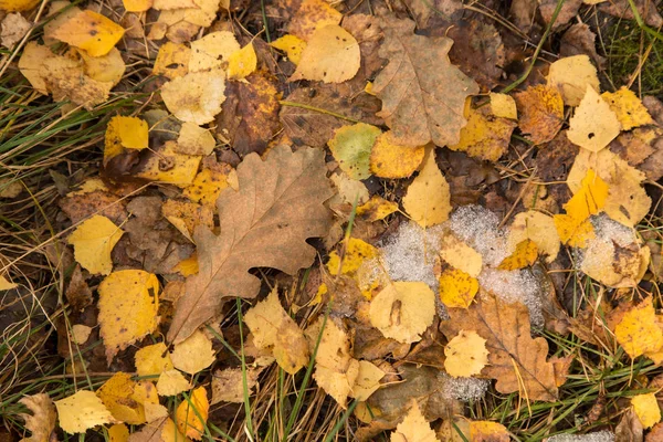
[[[370,171],[381,178],[408,178],[423,160],[424,146],[401,146],[391,131],[380,134],[370,151]]]

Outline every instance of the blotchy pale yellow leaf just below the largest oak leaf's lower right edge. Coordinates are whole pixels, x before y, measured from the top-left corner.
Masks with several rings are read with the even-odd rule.
[[[253,344],[261,350],[271,349],[287,373],[294,375],[308,364],[304,332],[281,306],[276,287],[246,312],[244,322],[253,334]]]

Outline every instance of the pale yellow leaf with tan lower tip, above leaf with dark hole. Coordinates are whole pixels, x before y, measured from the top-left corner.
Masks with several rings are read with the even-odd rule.
[[[588,87],[600,91],[597,69],[587,55],[567,56],[550,64],[548,85],[559,88],[567,106],[578,106]]]

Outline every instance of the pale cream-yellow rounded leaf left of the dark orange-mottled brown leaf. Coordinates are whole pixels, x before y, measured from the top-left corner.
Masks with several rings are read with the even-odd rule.
[[[225,101],[225,73],[220,69],[189,72],[161,86],[161,98],[182,122],[203,125],[221,112]]]

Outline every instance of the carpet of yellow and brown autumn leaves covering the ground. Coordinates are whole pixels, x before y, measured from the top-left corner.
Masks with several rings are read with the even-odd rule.
[[[663,362],[663,105],[602,81],[593,29],[566,31],[594,2],[559,15],[513,2],[505,17],[538,8],[561,36],[562,56],[524,84],[512,70],[532,52],[514,30],[454,1],[57,3],[43,39],[22,42],[34,2],[0,1],[34,96],[64,113],[129,86],[154,99],[107,118],[99,178],[67,171],[54,223],[73,250],[59,351],[99,338],[70,370],[114,375],[24,396],[28,440],[56,425],[253,440],[249,417],[224,413],[304,372],[359,440],[654,440],[657,371],[629,377],[619,423],[594,425],[585,403],[536,436],[518,423],[575,401],[569,379],[593,376],[601,351]],[[8,269],[10,293],[22,276]],[[317,410],[312,425],[327,421]]]

